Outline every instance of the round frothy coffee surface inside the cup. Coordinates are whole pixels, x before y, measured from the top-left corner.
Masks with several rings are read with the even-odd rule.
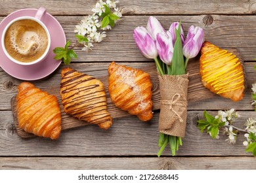
[[[47,48],[47,33],[33,20],[14,22],[5,36],[5,47],[12,58],[31,62],[40,58]]]

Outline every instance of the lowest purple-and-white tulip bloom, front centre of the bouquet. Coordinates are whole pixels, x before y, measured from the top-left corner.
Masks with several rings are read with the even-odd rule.
[[[158,33],[156,36],[156,48],[161,61],[167,65],[171,65],[173,59],[173,37],[171,33]]]

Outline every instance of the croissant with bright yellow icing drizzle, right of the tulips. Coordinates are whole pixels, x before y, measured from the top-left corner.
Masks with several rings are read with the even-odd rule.
[[[200,57],[200,75],[205,88],[232,101],[244,97],[244,69],[241,61],[227,50],[205,41]]]

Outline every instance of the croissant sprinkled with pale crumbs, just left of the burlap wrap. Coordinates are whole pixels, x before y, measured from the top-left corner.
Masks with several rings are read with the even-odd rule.
[[[150,75],[139,69],[117,65],[114,61],[108,67],[108,90],[116,107],[136,115],[142,121],[151,120],[152,83]]]

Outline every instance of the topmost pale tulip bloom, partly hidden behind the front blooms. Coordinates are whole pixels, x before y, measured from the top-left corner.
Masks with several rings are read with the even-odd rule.
[[[150,18],[148,18],[148,25],[146,26],[146,29],[148,29],[148,33],[150,33],[154,40],[156,40],[156,35],[158,33],[165,33],[165,29],[163,29],[158,19],[154,16],[150,16]]]

